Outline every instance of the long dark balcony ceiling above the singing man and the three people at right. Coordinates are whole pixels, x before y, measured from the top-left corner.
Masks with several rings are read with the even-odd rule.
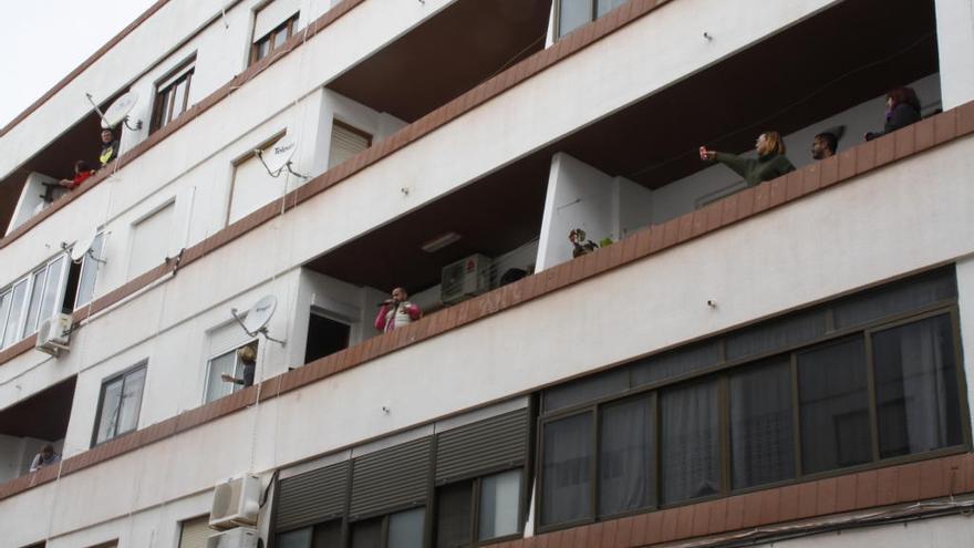
[[[556,152],[659,188],[703,168],[701,144],[744,152],[764,130],[788,134],[936,72],[934,32],[931,0],[841,2],[308,266],[380,289],[429,287],[453,260],[498,255],[538,237]],[[443,66],[449,65],[439,72]],[[431,74],[417,74],[412,85]],[[396,91],[403,101],[411,96]],[[882,121],[877,112],[877,127]],[[419,250],[446,231],[464,239],[436,254]]]

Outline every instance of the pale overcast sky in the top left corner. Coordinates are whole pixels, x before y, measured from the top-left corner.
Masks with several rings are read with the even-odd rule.
[[[148,9],[155,0],[0,0],[0,127]],[[77,97],[85,101],[84,96]]]

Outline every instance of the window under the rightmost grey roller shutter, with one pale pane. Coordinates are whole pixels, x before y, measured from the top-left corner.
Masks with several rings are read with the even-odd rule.
[[[477,541],[517,534],[520,492],[520,469],[439,487],[435,546],[473,546]]]

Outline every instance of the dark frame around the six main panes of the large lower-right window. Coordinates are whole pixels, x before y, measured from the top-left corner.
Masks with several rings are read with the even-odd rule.
[[[800,313],[800,311],[798,311]],[[913,453],[908,455],[898,455],[887,458],[881,458],[879,456],[879,430],[878,430],[878,416],[877,416],[877,407],[875,407],[875,375],[874,375],[874,360],[873,360],[873,351],[872,351],[872,339],[871,335],[875,332],[885,331],[889,329],[893,329],[897,327],[908,325],[914,322],[920,322],[926,319],[936,318],[945,316],[949,319],[951,325],[951,335],[952,335],[952,348],[954,351],[954,374],[955,382],[957,383],[957,403],[961,410],[960,425],[961,425],[961,438],[962,443],[960,445],[952,445],[945,447],[939,447],[933,451],[922,452],[922,453]],[[831,314],[829,314],[831,318]],[[784,317],[783,317],[784,318]],[[765,490],[775,487],[781,487],[786,485],[794,485],[799,483],[806,483],[811,480],[817,480],[821,478],[828,477],[837,477],[845,476],[849,474],[854,474],[862,471],[869,469],[879,469],[885,468],[889,466],[895,466],[905,463],[914,463],[928,461],[931,458],[937,458],[942,456],[955,455],[960,453],[965,453],[970,451],[974,442],[972,442],[972,424],[971,424],[971,414],[968,406],[968,394],[966,391],[966,376],[965,376],[965,366],[964,366],[964,356],[962,353],[962,340],[961,340],[961,329],[960,329],[960,310],[957,306],[956,297],[950,299],[949,301],[936,301],[923,307],[918,307],[914,310],[910,310],[906,312],[900,312],[895,314],[891,314],[885,318],[880,318],[877,320],[872,320],[870,322],[858,324],[850,328],[843,329],[832,329],[833,322],[829,321],[829,328],[826,334],[818,337],[810,341],[804,341],[796,344],[790,344],[787,348],[775,349],[774,351],[764,352],[759,355],[748,355],[734,361],[723,361],[716,366],[705,368],[700,371],[694,371],[684,375],[676,375],[672,379],[666,379],[663,381],[632,387],[629,391],[623,393],[614,393],[604,395],[598,399],[594,399],[590,402],[573,404],[570,406],[564,406],[561,409],[557,409],[550,412],[546,412],[540,410],[539,415],[537,416],[537,442],[536,442],[536,451],[537,458],[535,464],[535,477],[538,483],[538,500],[535,505],[535,515],[533,521],[536,524],[537,533],[549,533],[553,530],[567,529],[571,527],[577,527],[579,525],[586,525],[597,521],[602,521],[607,519],[618,519],[621,517],[626,517],[635,514],[644,514],[647,511],[655,511],[660,509],[680,507],[691,504],[701,504],[708,500],[726,498],[736,495],[743,495],[747,493]],[[804,463],[801,463],[801,428],[800,428],[800,402],[798,401],[798,376],[797,376],[797,355],[807,349],[812,349],[818,345],[833,343],[836,341],[840,341],[842,339],[850,338],[854,334],[861,334],[863,338],[863,344],[866,345],[866,355],[864,355],[864,366],[867,368],[867,387],[868,387],[868,406],[870,413],[870,430],[871,430],[871,456],[870,461],[867,463],[832,468],[821,472],[815,473],[805,473]],[[724,335],[717,335],[724,337]],[[669,349],[667,349],[669,350]],[[722,351],[722,355],[726,355]],[[731,402],[729,402],[729,379],[731,375],[735,371],[740,371],[748,365],[758,365],[760,363],[767,363],[768,360],[774,359],[775,356],[787,356],[789,362],[789,370],[791,375],[791,413],[792,413],[792,424],[791,424],[791,437],[794,444],[794,457],[795,457],[795,474],[791,478],[781,479],[778,482],[765,483],[759,485],[752,485],[746,487],[733,488],[731,485],[731,474],[732,474],[732,453],[731,453]],[[661,499],[661,485],[660,477],[662,474],[662,463],[661,463],[661,449],[663,445],[662,433],[660,431],[660,393],[662,390],[672,386],[686,385],[695,382],[700,382],[705,379],[715,379],[718,383],[717,387],[717,405],[718,405],[718,414],[719,414],[719,440],[721,440],[721,456],[719,456],[719,469],[721,469],[721,488],[718,493],[714,495],[708,495],[704,497],[691,498],[685,500],[677,500],[669,504],[664,504]],[[649,397],[652,397],[651,410],[653,413],[652,420],[654,420],[653,427],[654,437],[653,437],[653,469],[651,471],[654,475],[653,483],[653,493],[650,495],[649,499],[651,504],[646,507],[640,509],[629,510],[622,514],[615,515],[600,515],[599,508],[599,489],[600,489],[600,443],[601,443],[601,407],[605,405],[612,405],[615,403],[623,403],[630,401],[633,397],[645,397],[649,394]],[[543,440],[545,440],[545,427],[547,424],[551,422],[556,422],[562,418],[568,418],[574,415],[591,413],[593,420],[593,433],[594,437],[594,454],[592,455],[592,468],[590,469],[590,474],[592,475],[592,486],[590,488],[590,497],[592,504],[592,517],[574,519],[571,521],[558,523],[558,524],[545,524],[542,521],[542,508],[545,505],[543,500]]]

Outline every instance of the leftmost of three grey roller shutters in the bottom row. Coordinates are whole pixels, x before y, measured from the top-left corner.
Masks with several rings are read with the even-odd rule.
[[[345,509],[349,463],[281,479],[276,528],[286,531],[340,516]]]

